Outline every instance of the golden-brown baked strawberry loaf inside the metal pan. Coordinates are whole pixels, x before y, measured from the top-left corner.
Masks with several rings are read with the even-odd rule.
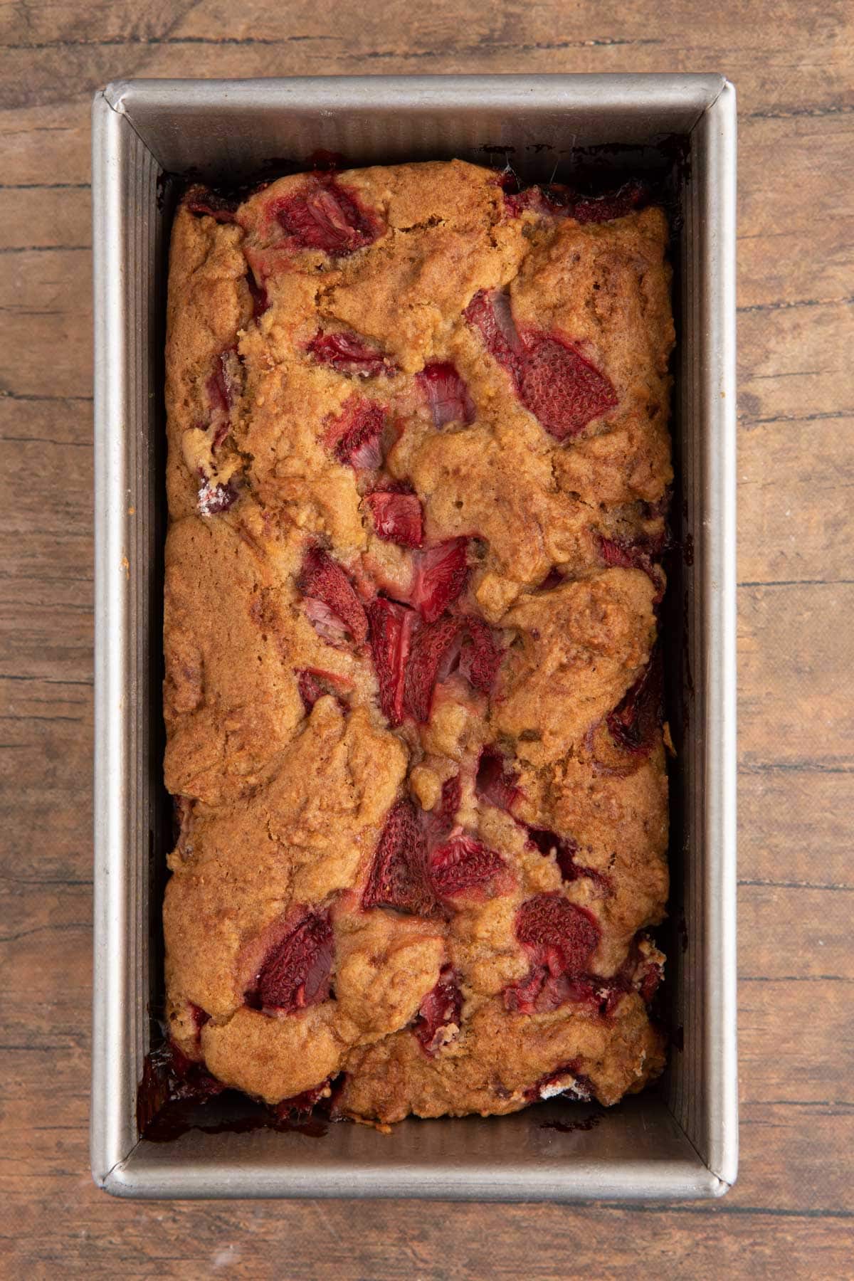
[[[192,188],[166,401],[175,1061],[379,1123],[663,1066],[667,224],[460,161]]]

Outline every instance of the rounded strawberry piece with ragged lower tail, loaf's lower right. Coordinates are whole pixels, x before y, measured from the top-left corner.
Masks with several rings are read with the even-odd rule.
[[[577,999],[579,977],[599,942],[592,912],[558,892],[536,894],[516,912],[516,938],[531,958],[521,983],[504,989],[504,1006],[520,1013],[557,1009]]]

